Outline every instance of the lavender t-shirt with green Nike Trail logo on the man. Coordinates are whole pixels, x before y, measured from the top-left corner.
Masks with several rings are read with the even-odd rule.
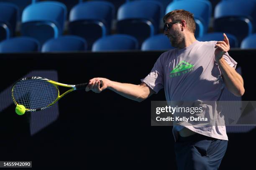
[[[224,82],[214,52],[217,41],[195,41],[188,47],[172,49],[161,54],[151,72],[141,81],[156,93],[164,88],[167,101],[216,101],[220,98]],[[230,67],[236,68],[237,62],[228,52],[223,58]],[[224,116],[215,115],[214,125],[193,125],[185,122],[174,125],[174,139],[178,131],[186,128],[212,138],[228,140]]]

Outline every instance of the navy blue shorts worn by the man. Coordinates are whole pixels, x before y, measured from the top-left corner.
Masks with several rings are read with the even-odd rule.
[[[175,143],[178,170],[218,170],[228,147],[228,140],[219,140],[196,133],[179,136]]]

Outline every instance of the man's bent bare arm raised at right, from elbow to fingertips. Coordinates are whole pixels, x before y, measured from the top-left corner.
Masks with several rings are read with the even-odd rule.
[[[244,93],[243,78],[236,72],[233,67],[230,67],[223,58],[223,55],[229,51],[228,37],[224,35],[223,41],[218,41],[215,44],[215,60],[219,65],[220,71],[223,75],[224,83],[228,90],[236,96],[242,96]]]

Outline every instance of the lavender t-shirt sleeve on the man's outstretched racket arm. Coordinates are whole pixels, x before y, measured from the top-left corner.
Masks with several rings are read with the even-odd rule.
[[[141,82],[145,82],[156,93],[164,88],[164,71],[161,57],[162,55],[157,59],[151,72],[144,79],[141,79]]]

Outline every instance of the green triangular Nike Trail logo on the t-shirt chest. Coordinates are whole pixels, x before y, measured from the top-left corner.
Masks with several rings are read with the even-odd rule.
[[[186,74],[187,72],[190,72],[193,70],[194,65],[189,64],[188,62],[185,62],[184,60],[179,62],[179,64],[174,67],[172,72],[170,72],[170,77],[176,77],[183,74]]]

